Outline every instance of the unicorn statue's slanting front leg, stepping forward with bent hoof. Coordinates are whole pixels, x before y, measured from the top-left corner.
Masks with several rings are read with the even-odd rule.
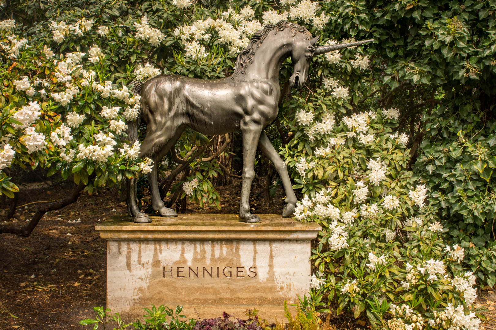
[[[286,199],[284,200],[284,209],[282,212],[283,217],[290,217],[295,212],[296,202],[298,201],[293,191],[293,186],[291,185],[291,180],[289,179],[288,169],[286,163],[279,157],[277,150],[274,148],[272,143],[265,132],[260,134],[260,139],[258,140],[258,147],[260,150],[270,159],[272,164],[279,173],[279,177],[282,181],[282,186],[284,187],[284,192],[286,193]]]

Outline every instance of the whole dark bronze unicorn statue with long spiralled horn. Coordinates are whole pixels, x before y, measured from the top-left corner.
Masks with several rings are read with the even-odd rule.
[[[236,61],[232,76],[204,80],[178,75],[158,75],[142,84],[135,84],[134,94],[141,95],[141,118],[146,122],[146,136],[141,143],[140,158],[148,157],[153,168],[148,173],[152,207],[162,217],[176,217],[177,213],[165,207],[157,181],[157,166],[181,137],[184,129],[205,135],[220,135],[241,130],[243,134],[243,175],[240,213],[246,223],[260,222],[250,213],[248,203],[256,147],[267,156],[279,173],[286,193],[282,216],[290,217],[295,211],[297,198],[293,191],[286,164],[267,138],[263,129],[278,112],[281,94],[279,70],[282,62],[291,56],[294,64],[289,83],[301,88],[307,79],[313,56],[329,51],[353,47],[373,41],[365,40],[332,46],[315,47],[319,37],[313,38],[303,26],[281,20],[268,24],[251,37]],[[129,126],[128,137],[137,139],[139,120]],[[151,222],[137,206],[136,178],[128,179],[127,210],[136,223]]]

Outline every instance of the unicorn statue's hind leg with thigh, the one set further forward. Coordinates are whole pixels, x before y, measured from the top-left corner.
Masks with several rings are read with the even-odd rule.
[[[174,144],[176,144],[183,131],[183,126],[176,129],[173,127],[166,127],[161,130],[160,134],[147,134],[145,140],[141,144],[140,157],[141,153],[143,155],[150,154],[150,158],[153,160],[152,171],[147,175],[148,184],[152,194],[152,207],[155,211],[158,211],[162,217],[177,217],[178,215],[173,209],[165,207],[164,202],[160,197],[160,189],[157,181],[157,164],[159,164],[162,158],[169,152]],[[148,136],[150,136],[149,139],[147,139]]]

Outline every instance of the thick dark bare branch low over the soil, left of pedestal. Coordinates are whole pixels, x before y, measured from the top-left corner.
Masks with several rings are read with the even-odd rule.
[[[40,207],[38,207],[38,210],[31,218],[31,220],[27,223],[27,225],[1,225],[0,234],[15,234],[18,236],[29,237],[31,235],[31,232],[35,229],[36,225],[38,225],[38,222],[40,222],[40,219],[45,213],[61,209],[64,206],[74,203],[85,187],[85,184],[80,183],[74,190],[72,190],[71,194],[64,199],[50,204],[41,205]]]

